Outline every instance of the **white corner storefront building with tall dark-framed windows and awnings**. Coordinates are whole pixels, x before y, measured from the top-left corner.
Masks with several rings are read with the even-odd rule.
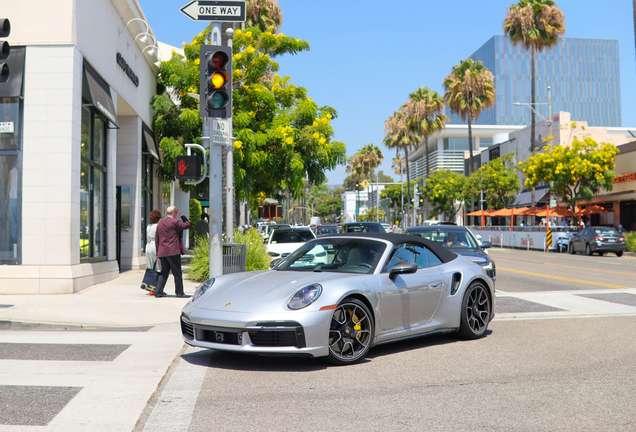
[[[142,268],[147,215],[162,208],[143,11],[21,0],[2,14],[0,294],[72,293]]]

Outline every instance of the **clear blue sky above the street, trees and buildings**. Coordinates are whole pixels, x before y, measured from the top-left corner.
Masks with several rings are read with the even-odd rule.
[[[181,46],[207,23],[179,8],[189,0],[139,0],[157,38]],[[279,74],[307,88],[319,106],[338,111],[335,139],[353,155],[367,143],[382,149],[380,169],[390,173],[395,156],[382,145],[384,121],[419,86],[442,91],[453,65],[493,35],[511,0],[279,0],[281,31],[306,40],[311,50],[277,58]],[[622,126],[636,129],[636,62],[631,0],[557,1],[566,36],[617,39],[620,49]],[[341,183],[344,166],[327,173]]]

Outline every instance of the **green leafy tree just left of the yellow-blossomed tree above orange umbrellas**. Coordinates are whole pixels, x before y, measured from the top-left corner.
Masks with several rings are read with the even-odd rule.
[[[465,198],[481,198],[483,191],[487,208],[500,209],[510,204],[521,188],[513,158],[514,153],[508,153],[475,171],[466,182]]]

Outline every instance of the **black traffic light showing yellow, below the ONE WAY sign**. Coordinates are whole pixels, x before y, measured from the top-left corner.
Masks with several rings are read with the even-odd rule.
[[[199,80],[201,117],[232,118],[232,48],[201,45]]]

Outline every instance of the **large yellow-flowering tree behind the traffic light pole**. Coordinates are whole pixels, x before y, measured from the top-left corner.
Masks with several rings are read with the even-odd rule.
[[[200,142],[198,100],[199,50],[209,40],[210,27],[184,44],[184,54],[163,62],[159,84],[169,91],[153,100],[154,130],[160,134],[164,163],[159,176],[174,179],[174,158],[184,143]],[[333,141],[331,122],[336,110],[319,107],[304,87],[279,75],[274,60],[283,54],[309,50],[309,43],[276,33],[270,26],[236,30],[233,42],[234,186],[237,199],[257,194],[276,197],[289,191],[302,195],[305,183],[321,184],[325,172],[346,163],[346,147]],[[185,185],[182,185],[187,190]],[[197,188],[207,188],[207,182]]]

